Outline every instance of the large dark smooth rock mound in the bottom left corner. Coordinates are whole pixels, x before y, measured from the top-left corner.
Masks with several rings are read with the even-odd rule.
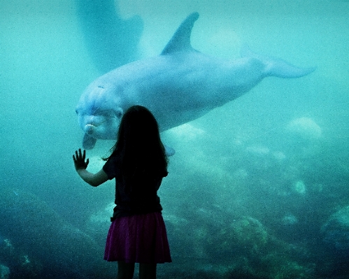
[[[34,194],[0,189],[0,234],[10,243],[0,252],[8,259],[11,273],[25,278],[108,277],[104,247],[73,227]],[[10,252],[13,250],[14,252]],[[13,266],[13,267],[12,267]]]

